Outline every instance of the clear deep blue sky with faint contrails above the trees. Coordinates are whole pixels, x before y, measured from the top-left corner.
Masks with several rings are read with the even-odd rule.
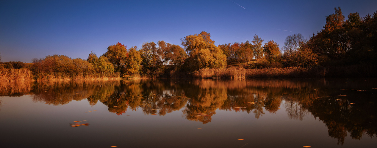
[[[116,42],[138,48],[159,40],[180,45],[181,38],[201,31],[216,45],[250,41],[257,34],[281,48],[288,34],[309,38],[320,31],[338,6],[346,18],[351,12],[363,17],[377,10],[377,1],[1,0],[0,52],[3,62],[53,54],[86,59]]]

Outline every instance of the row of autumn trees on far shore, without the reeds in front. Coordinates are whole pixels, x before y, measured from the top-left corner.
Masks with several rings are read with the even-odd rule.
[[[138,49],[116,43],[99,58],[93,52],[86,60],[71,59],[65,55],[52,55],[34,59],[30,69],[34,72],[89,73],[121,76],[148,75],[159,77],[170,71],[191,72],[202,68],[222,68],[230,64],[256,61],[257,67],[314,67],[340,64],[377,63],[377,12],[361,18],[350,13],[348,19],[340,7],[326,16],[323,29],[308,40],[302,34],[288,35],[282,49],[274,40],[263,44],[255,35],[251,42],[215,45],[210,34],[202,31],[181,39],[181,46],[164,41],[145,42]],[[183,47],[183,48],[182,48]],[[20,63],[2,64],[16,68]],[[22,65],[22,64],[21,64]],[[1,65],[0,65],[1,66]],[[25,67],[25,66],[22,66]]]

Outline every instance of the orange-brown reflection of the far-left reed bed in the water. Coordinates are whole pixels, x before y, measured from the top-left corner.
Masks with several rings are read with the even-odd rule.
[[[32,81],[0,82],[0,96],[22,96],[29,93],[33,84]]]

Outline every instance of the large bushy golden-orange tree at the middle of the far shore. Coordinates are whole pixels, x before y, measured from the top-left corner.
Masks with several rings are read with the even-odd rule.
[[[227,57],[215,45],[215,41],[210,39],[209,33],[202,31],[199,34],[188,35],[181,41],[181,45],[189,54],[186,64],[190,70],[225,67]]]

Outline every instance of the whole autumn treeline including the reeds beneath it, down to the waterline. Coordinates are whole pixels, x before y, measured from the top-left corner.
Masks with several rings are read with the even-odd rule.
[[[363,18],[349,13],[345,20],[335,8],[321,31],[310,39],[288,35],[282,49],[274,40],[263,44],[257,35],[251,42],[218,46],[210,37],[202,31],[182,38],[181,46],[144,42],[140,49],[118,42],[100,57],[52,55],[32,63],[0,63],[0,69],[30,69],[34,79],[377,75],[377,11]]]

